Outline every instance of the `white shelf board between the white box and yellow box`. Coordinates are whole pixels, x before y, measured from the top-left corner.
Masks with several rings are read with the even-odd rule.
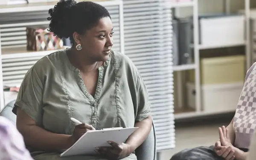
[[[198,49],[216,49],[216,48],[226,48],[226,47],[238,47],[238,46],[244,46],[246,45],[246,41],[241,43],[227,43],[227,44],[213,44],[213,45],[204,45],[199,44]],[[190,47],[194,47],[194,44],[191,44]]]

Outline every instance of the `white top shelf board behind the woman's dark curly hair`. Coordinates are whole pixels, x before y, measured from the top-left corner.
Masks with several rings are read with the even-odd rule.
[[[77,2],[82,0],[76,0]],[[91,0],[95,3],[99,3],[103,6],[115,5],[121,3],[120,0]],[[44,3],[29,3],[29,4],[17,4],[17,5],[0,5],[0,13],[13,13],[13,12],[33,12],[44,11],[53,8],[56,2],[44,2]]]

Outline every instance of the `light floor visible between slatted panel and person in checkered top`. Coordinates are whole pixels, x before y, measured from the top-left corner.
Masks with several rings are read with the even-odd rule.
[[[228,124],[222,122],[214,125],[199,125],[180,127],[175,130],[176,147],[172,150],[163,151],[161,153],[161,160],[169,160],[173,154],[185,149],[193,148],[201,145],[213,145],[218,140],[218,127]]]

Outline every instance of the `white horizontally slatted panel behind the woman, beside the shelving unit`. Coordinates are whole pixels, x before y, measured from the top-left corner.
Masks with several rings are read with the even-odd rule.
[[[125,54],[148,88],[157,151],[175,147],[172,15],[160,0],[123,0]]]

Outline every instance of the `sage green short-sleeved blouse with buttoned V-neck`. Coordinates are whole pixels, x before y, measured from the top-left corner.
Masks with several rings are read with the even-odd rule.
[[[140,73],[126,55],[113,50],[108,61],[99,67],[94,97],[88,93],[79,69],[70,63],[64,49],[45,56],[28,71],[20,86],[14,113],[17,107],[47,131],[70,135],[75,127],[71,117],[99,130],[134,127],[135,122],[150,115],[148,93]],[[59,158],[57,154],[44,154],[51,154],[52,158],[47,160]],[[38,160],[46,160],[45,155],[37,156]],[[80,157],[100,160],[99,157]],[[130,159],[137,158],[131,154],[124,160]]]

